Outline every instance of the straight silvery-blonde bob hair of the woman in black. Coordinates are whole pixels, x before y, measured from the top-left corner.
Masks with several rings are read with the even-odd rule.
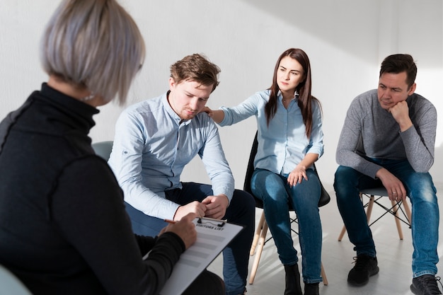
[[[42,37],[40,57],[49,75],[88,89],[107,102],[126,101],[144,62],[144,40],[115,0],[65,0]]]

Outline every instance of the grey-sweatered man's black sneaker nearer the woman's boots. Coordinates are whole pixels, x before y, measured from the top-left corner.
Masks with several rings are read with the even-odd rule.
[[[379,273],[377,258],[360,254],[354,258],[355,266],[347,274],[347,282],[355,286],[363,286],[369,282],[369,277]]]

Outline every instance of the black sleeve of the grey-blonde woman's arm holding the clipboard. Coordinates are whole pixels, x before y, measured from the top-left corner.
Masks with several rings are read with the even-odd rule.
[[[183,241],[171,233],[157,240],[134,237],[117,180],[97,156],[64,168],[51,207],[54,224],[74,248],[67,258],[72,271],[86,264],[108,294],[158,294],[183,253]],[[142,251],[149,248],[143,261]]]

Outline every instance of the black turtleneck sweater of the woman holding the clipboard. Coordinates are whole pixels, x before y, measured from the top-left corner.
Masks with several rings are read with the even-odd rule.
[[[157,294],[185,249],[132,233],[97,113],[43,83],[0,123],[0,264],[35,295]]]

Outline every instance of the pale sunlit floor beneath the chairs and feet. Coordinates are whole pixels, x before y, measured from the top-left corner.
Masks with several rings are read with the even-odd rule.
[[[355,251],[350,243],[347,234],[343,241],[338,241],[338,235],[343,227],[343,221],[338,212],[335,201],[335,193],[332,187],[326,187],[330,192],[331,201],[320,209],[323,226],[323,255],[322,262],[328,278],[328,285],[320,284],[321,295],[403,295],[413,294],[410,289],[412,280],[411,260],[412,260],[412,238],[408,226],[402,223],[403,241],[398,238],[398,232],[393,216],[386,215],[376,224],[372,225],[372,234],[376,243],[377,259],[379,261],[379,274],[371,277],[369,283],[364,287],[352,287],[347,284],[347,273],[353,267],[352,257]],[[443,187],[437,187],[440,190]],[[437,195],[441,193],[437,192]],[[386,202],[387,201],[387,202]],[[386,206],[389,206],[389,199],[384,198]],[[443,202],[439,202],[440,211],[443,210]],[[256,223],[260,219],[262,211],[255,212]],[[372,216],[381,214],[381,209],[374,206]],[[442,220],[440,220],[440,232],[443,231]],[[268,233],[268,236],[270,233]],[[297,236],[294,235],[295,244],[298,247]],[[440,239],[438,253],[440,259],[443,255],[443,241]],[[299,248],[298,248],[299,250]],[[300,251],[299,251],[300,252]],[[251,256],[249,269],[253,264],[254,257]],[[301,258],[299,258],[301,259]],[[299,266],[300,267],[300,266]],[[439,274],[443,277],[443,262],[437,265]],[[208,267],[209,270],[222,277],[222,259],[217,258]],[[249,279],[249,277],[248,277]],[[442,287],[440,286],[440,289]],[[283,295],[284,294],[284,269],[280,264],[273,241],[269,241],[263,248],[258,272],[253,284],[247,285],[247,295]]]

